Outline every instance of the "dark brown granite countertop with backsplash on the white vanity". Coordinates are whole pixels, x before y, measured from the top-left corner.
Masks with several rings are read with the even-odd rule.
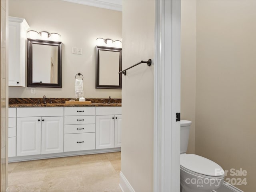
[[[70,100],[69,98],[46,98],[46,104],[43,103],[42,98],[9,98],[9,107],[92,107],[92,106],[122,106],[122,99],[87,99],[92,104],[65,104],[65,101]],[[52,103],[50,103],[52,101]]]

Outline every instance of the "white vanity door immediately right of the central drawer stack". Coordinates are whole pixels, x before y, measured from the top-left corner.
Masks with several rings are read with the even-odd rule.
[[[96,116],[96,149],[114,147],[114,115]]]

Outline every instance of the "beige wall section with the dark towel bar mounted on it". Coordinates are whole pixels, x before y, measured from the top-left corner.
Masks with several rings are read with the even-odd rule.
[[[123,3],[123,67],[154,59],[152,0]],[[140,64],[122,78],[121,171],[137,192],[153,191],[154,64]]]

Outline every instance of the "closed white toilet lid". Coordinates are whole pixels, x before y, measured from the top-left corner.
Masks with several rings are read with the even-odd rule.
[[[195,154],[181,154],[180,166],[206,176],[224,176],[224,170],[215,162]]]

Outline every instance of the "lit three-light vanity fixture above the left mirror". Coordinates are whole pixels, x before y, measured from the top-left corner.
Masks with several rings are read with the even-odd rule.
[[[58,33],[49,33],[47,31],[37,32],[30,30],[27,32],[30,39],[40,39],[40,40],[50,40],[50,41],[59,41],[60,34]]]

